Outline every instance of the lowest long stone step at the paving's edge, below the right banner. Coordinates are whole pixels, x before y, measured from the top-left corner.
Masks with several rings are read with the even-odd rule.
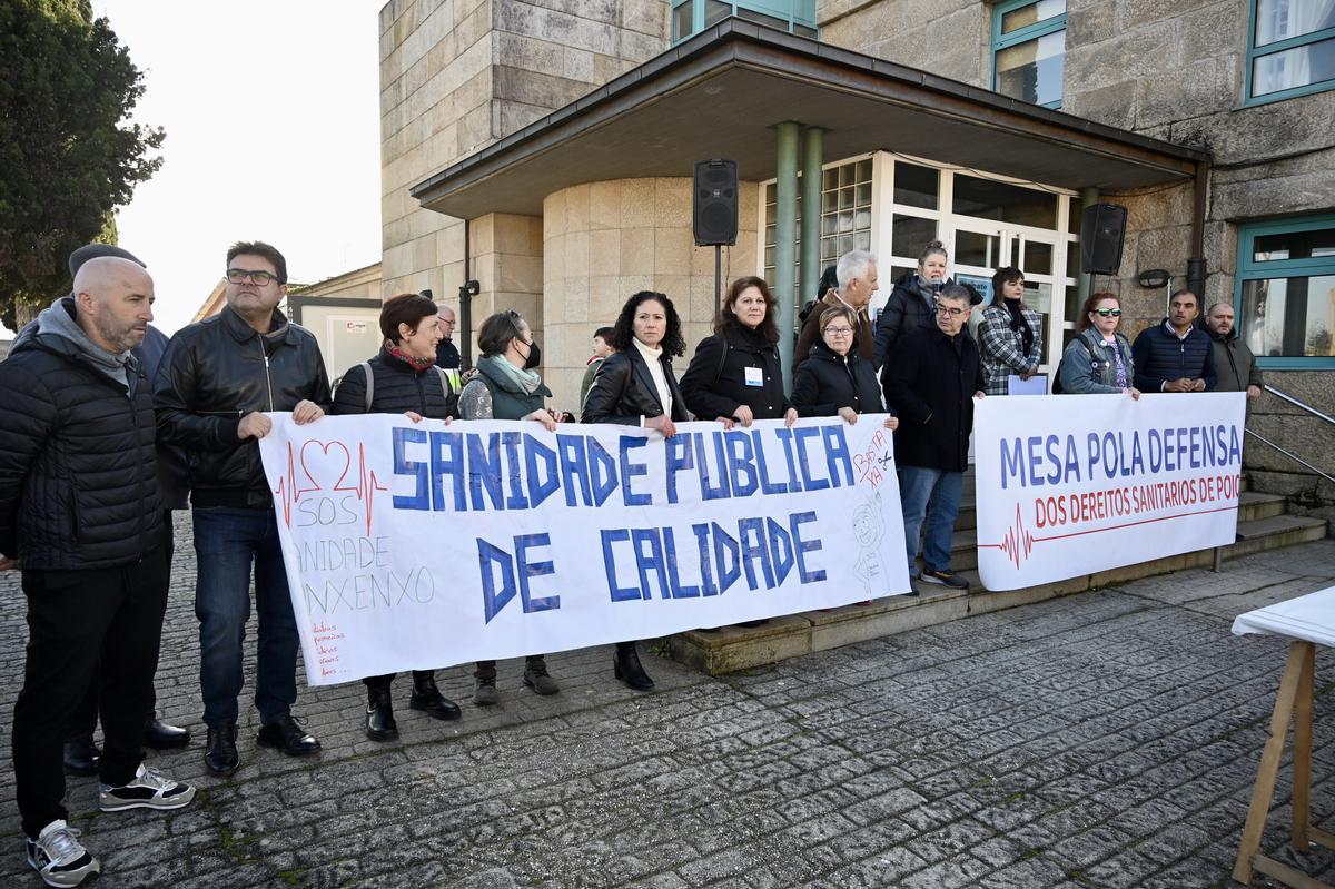
[[[1264,501],[1251,501],[1248,506],[1260,511],[1272,509],[1270,502]],[[1238,542],[1223,547],[1223,555],[1231,559],[1262,550],[1319,541],[1324,537],[1324,519],[1264,515],[1239,522]],[[918,597],[893,595],[876,599],[866,606],[845,605],[829,611],[804,611],[774,618],[757,627],[728,626],[710,633],[692,630],[669,637],[668,650],[677,661],[710,675],[718,675],[1143,577],[1210,567],[1214,565],[1214,550],[1197,550],[1004,593],[988,593],[983,589],[977,571],[960,570],[960,575],[972,585],[969,591],[924,586],[924,594]],[[972,562],[977,565],[976,551]]]

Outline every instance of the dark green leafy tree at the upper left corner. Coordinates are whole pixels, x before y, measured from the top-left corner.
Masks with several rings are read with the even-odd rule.
[[[69,287],[65,260],[162,166],[129,123],[143,75],[88,0],[0,0],[0,320]]]

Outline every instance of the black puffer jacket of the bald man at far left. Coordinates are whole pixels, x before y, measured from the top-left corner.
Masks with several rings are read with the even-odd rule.
[[[138,362],[127,379],[40,319],[0,362],[0,553],[24,570],[111,569],[162,545],[152,396]]]

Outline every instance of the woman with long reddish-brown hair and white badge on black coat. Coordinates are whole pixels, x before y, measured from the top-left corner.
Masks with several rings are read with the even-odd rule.
[[[728,428],[778,418],[792,426],[797,419],[784,394],[774,306],[764,278],[738,278],[728,288],[714,335],[700,342],[681,378],[686,408],[697,418]]]

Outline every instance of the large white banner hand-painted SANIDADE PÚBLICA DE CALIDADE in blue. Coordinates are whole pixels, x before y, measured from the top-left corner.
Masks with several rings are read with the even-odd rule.
[[[271,414],[311,685],[909,591],[882,415],[792,428]]]

